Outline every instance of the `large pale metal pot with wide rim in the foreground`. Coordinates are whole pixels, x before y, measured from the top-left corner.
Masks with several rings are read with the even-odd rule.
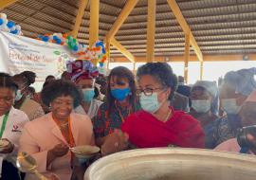
[[[84,180],[255,180],[256,156],[156,148],[115,153],[92,164]]]

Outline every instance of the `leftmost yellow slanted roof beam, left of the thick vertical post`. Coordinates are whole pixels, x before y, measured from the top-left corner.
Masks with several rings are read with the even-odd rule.
[[[71,32],[71,35],[74,38],[77,38],[77,36],[78,36],[79,28],[82,24],[82,17],[83,17],[83,14],[84,14],[87,4],[88,4],[88,0],[80,0],[80,7],[79,7],[78,14],[76,17],[75,27],[73,28],[73,30]]]

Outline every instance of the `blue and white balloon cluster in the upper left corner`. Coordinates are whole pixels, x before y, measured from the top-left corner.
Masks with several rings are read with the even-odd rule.
[[[11,34],[22,35],[21,27],[13,21],[9,21],[5,13],[0,13],[0,30]]]

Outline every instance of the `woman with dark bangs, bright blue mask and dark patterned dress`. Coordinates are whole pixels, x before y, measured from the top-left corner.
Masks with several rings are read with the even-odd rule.
[[[134,74],[122,66],[112,69],[107,80],[106,102],[93,119],[96,143],[101,146],[106,136],[119,129],[124,119],[138,109]]]

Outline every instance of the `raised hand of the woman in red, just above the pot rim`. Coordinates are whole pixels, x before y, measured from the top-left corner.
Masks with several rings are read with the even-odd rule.
[[[107,155],[110,153],[117,153],[128,147],[129,136],[122,133],[120,130],[115,130],[113,134],[105,137],[104,143],[101,146],[101,154]]]

